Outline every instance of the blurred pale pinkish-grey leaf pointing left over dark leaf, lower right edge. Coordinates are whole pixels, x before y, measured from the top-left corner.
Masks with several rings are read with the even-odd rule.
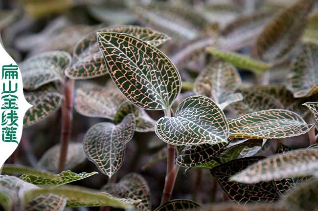
[[[318,149],[297,149],[259,161],[231,177],[241,183],[271,181],[288,177],[311,176],[316,173]]]

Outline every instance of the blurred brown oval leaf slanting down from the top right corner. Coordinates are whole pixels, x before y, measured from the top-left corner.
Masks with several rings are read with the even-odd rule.
[[[290,54],[306,27],[313,4],[314,0],[298,0],[265,26],[256,41],[256,53],[261,60],[274,63]]]

